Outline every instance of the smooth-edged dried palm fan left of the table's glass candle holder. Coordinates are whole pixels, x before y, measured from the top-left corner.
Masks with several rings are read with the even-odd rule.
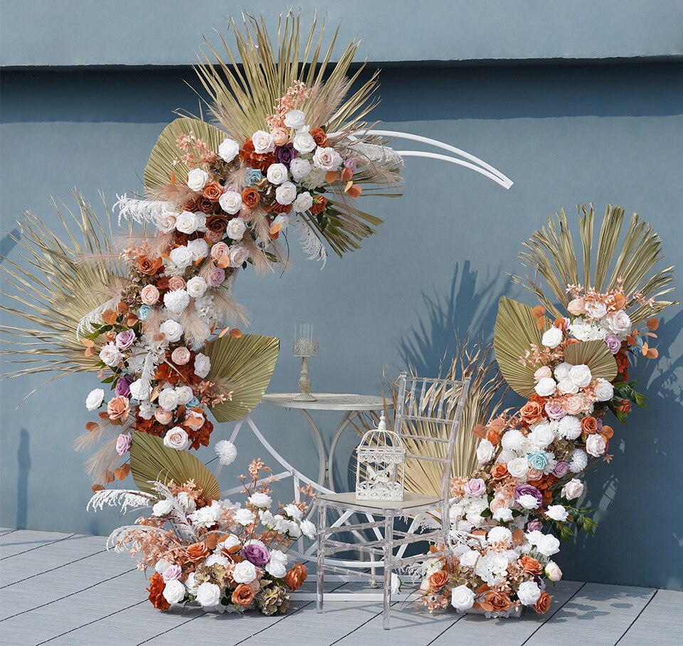
[[[248,415],[263,398],[275,370],[280,339],[260,334],[213,339],[201,350],[211,359],[207,379],[233,391],[231,401],[211,408],[218,422],[234,422]]]

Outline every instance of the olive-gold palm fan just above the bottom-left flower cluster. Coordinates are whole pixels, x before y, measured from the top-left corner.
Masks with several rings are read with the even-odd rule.
[[[176,451],[164,446],[161,438],[134,431],[130,447],[130,470],[140,491],[155,494],[152,482],[166,484],[173,480],[184,484],[194,480],[208,500],[218,500],[221,488],[208,467],[189,451]]]

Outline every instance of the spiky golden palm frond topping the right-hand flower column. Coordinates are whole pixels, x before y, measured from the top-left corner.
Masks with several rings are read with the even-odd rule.
[[[663,258],[662,240],[652,226],[633,213],[623,230],[625,211],[620,206],[607,205],[600,226],[597,244],[593,235],[593,204],[577,206],[581,249],[571,236],[564,209],[548,218],[548,226],[535,231],[524,243],[519,254],[524,265],[533,268],[533,277],[514,276],[513,281],[536,295],[542,305],[555,316],[565,312],[568,304],[567,285],[579,285],[598,292],[622,287],[627,297],[640,292],[646,300],[632,312],[634,325],[659,314],[675,301],[658,300],[673,291],[668,287],[673,280],[673,267],[655,272],[655,265]],[[621,240],[621,243],[619,243]],[[581,272],[579,272],[581,263]],[[544,292],[543,281],[550,293]],[[647,302],[652,299],[652,302]]]

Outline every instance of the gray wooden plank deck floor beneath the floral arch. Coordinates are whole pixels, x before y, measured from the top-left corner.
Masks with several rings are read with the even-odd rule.
[[[300,602],[276,618],[160,613],[144,588],[134,560],[105,551],[101,536],[0,529],[4,646],[683,644],[683,593],[652,588],[561,581],[546,615],[519,620],[430,616],[397,604],[391,632],[382,630],[379,603],[330,600],[318,615],[313,603]]]

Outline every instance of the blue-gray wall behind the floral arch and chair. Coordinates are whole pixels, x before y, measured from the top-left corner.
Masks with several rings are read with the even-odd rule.
[[[81,3],[59,6],[67,4],[76,15]],[[346,34],[362,33],[364,53],[386,61],[375,118],[388,129],[451,142],[515,184],[504,191],[470,171],[408,159],[401,200],[365,198],[386,223],[361,250],[344,260],[332,258],[321,272],[295,249],[292,270],[283,277],[241,275],[235,294],[250,308],[249,331],[283,340],[272,391],[296,388],[297,363],[288,353],[296,322],[317,327],[321,351],[311,367],[319,391],[376,393],[385,366],[396,374],[409,361],[425,374],[434,372],[440,356],[452,348],[454,329],[490,337],[498,297],[525,298],[508,278],[519,270],[521,241],[561,206],[571,212],[575,203],[593,201],[600,212],[611,202],[642,213],[662,235],[667,263],[681,267],[683,65],[676,60],[678,36],[671,32],[679,6],[661,4],[660,14],[650,11],[646,21],[636,3],[628,11],[605,3],[615,11],[610,29],[618,33],[600,31],[610,21],[606,9],[595,9],[597,3],[582,5],[582,20],[565,16],[553,4],[550,17],[543,14],[546,24],[552,18],[556,26],[556,38],[550,38],[531,11],[549,11],[549,3],[521,3],[524,11],[514,18],[519,23],[512,23],[519,29],[503,33],[499,26],[493,38],[487,28],[506,16],[512,21],[513,14],[504,14],[512,3],[500,5],[502,14],[480,11],[478,17],[472,16],[471,4],[457,3],[469,22],[452,18],[452,31],[467,38],[446,39],[447,21],[423,16],[420,30],[415,27],[413,38],[405,38],[406,48],[378,29],[380,14],[371,12],[370,24],[349,18]],[[171,110],[196,105],[184,85],[194,81],[191,70],[139,65],[186,65],[194,49],[194,44],[186,48],[186,40],[196,43],[198,31],[208,30],[204,23],[192,25],[177,50],[174,26],[154,26],[143,4],[119,3],[115,14],[102,16],[102,24],[83,14],[74,21],[58,20],[49,13],[53,4],[41,3],[44,11],[31,15],[32,6],[18,6],[16,16],[4,15],[2,21],[3,63],[14,70],[1,79],[1,250],[12,260],[19,253],[9,233],[24,209],[57,226],[48,196],[68,203],[78,186],[93,202],[102,189],[111,203],[116,193],[139,191],[149,150],[173,118]],[[221,4],[218,15],[229,9]],[[138,20],[132,19],[133,11]],[[429,38],[425,21],[440,30],[437,42]],[[79,41],[88,26],[89,39]],[[74,33],[76,27],[80,34]],[[17,36],[20,28],[25,38]],[[130,41],[126,29],[137,39]],[[154,29],[159,38],[153,37]],[[11,47],[7,36],[14,38]],[[519,60],[494,63],[501,58]],[[544,58],[629,60],[539,63]],[[470,65],[418,64],[450,59]],[[476,59],[486,65],[475,66]],[[135,66],[36,67],[110,63]],[[600,528],[594,538],[563,548],[561,565],[568,578],[683,587],[683,505],[676,484],[683,459],[677,381],[682,322],[680,309],[667,312],[660,327],[660,360],[634,369],[643,378],[650,408],[635,411],[628,425],[616,429],[613,462],[588,477],[587,502],[599,507]],[[81,456],[72,449],[89,419],[83,400],[95,383],[64,378],[15,410],[16,402],[41,382],[24,378],[1,384],[0,524],[104,534],[118,519],[113,511],[85,513],[89,482]],[[317,473],[303,418],[263,406],[255,418],[285,457],[307,465],[309,475]],[[319,420],[331,433],[334,415],[321,414]],[[219,426],[213,438],[230,430],[230,425]],[[349,430],[335,467],[337,480],[344,479],[344,456],[354,443]],[[253,455],[265,457],[246,434],[238,448],[240,465]],[[210,453],[203,455],[208,459]],[[223,472],[222,480],[227,487],[231,475]]]

